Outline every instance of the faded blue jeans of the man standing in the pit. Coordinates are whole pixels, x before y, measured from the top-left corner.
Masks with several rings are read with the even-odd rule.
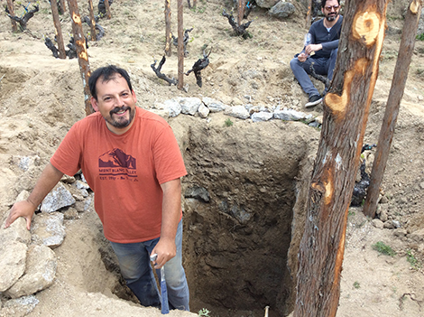
[[[126,284],[137,296],[143,306],[161,307],[161,297],[158,285],[154,279],[150,255],[158,243],[159,238],[139,243],[110,244],[119,261],[121,274]],[[189,285],[182,267],[182,220],[180,221],[175,237],[177,255],[165,264],[165,280],[168,291],[168,302],[171,309],[189,311]],[[161,270],[156,270],[161,276]]]

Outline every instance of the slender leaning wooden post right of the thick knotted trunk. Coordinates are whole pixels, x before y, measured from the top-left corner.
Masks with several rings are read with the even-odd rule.
[[[370,186],[368,187],[364,204],[364,214],[371,218],[375,217],[380,194],[380,185],[383,181],[383,174],[392,145],[394,127],[398,119],[403,90],[405,89],[406,79],[408,79],[408,70],[410,70],[410,60],[414,51],[415,35],[419,24],[421,7],[421,1],[412,0],[403,24],[401,46],[394,69],[392,88],[390,89],[389,98],[387,99],[383,126],[380,130],[377,151],[373,162],[373,170],[371,172]]]

